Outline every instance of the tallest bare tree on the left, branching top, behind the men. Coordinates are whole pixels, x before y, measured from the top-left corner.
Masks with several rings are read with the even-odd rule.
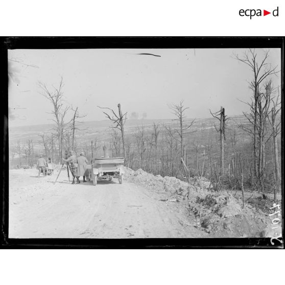
[[[63,108],[62,97],[63,97],[63,78],[61,77],[59,86],[56,88],[53,86],[53,91],[49,90],[45,83],[38,83],[42,94],[46,99],[48,99],[54,107],[52,114],[54,115],[53,121],[56,123],[56,132],[58,138],[58,151],[59,151],[59,160],[61,162],[62,159],[62,147],[63,147],[63,139],[64,139],[64,130],[66,127],[66,123],[64,122],[65,115],[69,109],[69,107]]]

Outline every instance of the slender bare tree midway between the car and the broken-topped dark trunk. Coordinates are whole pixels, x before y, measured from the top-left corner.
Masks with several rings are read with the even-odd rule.
[[[185,111],[189,109],[189,107],[184,107],[183,100],[181,100],[179,104],[173,104],[169,106],[169,108],[172,110],[172,113],[176,116],[176,118],[173,121],[177,121],[179,124],[179,127],[174,129],[174,131],[178,135],[181,157],[184,157],[183,153],[184,133],[186,130],[192,127],[196,119],[194,119],[191,123],[185,126],[185,118],[186,118]]]

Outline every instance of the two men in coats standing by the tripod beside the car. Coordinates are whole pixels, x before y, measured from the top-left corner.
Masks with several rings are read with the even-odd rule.
[[[70,169],[72,170],[73,174],[73,181],[72,184],[75,184],[75,177],[77,179],[77,184],[80,183],[79,177],[83,176],[83,182],[86,182],[85,180],[85,171],[87,167],[88,160],[84,156],[84,152],[80,153],[80,156],[76,158],[73,151],[69,152],[69,157],[67,159],[62,159],[64,162],[69,162]]]

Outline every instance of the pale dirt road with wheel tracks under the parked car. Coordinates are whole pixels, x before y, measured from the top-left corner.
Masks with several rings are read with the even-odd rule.
[[[117,179],[72,185],[66,171],[9,172],[9,238],[202,238],[194,218],[163,194]],[[81,178],[82,179],[82,178]]]

